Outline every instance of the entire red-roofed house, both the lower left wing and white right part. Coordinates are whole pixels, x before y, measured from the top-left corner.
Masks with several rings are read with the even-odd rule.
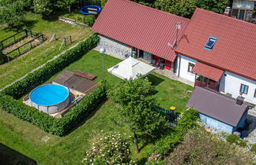
[[[196,9],[186,19],[128,0],[108,0],[92,26],[120,58],[163,64],[194,86],[256,105],[256,25]]]

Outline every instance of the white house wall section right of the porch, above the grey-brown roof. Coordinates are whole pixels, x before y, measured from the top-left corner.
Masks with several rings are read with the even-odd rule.
[[[220,79],[220,92],[232,94],[232,97],[236,98],[239,96],[241,83],[249,86],[248,93],[242,95],[245,97],[245,101],[256,105],[256,97],[254,97],[256,81],[235,75],[232,72],[224,72],[224,75],[222,75]]]

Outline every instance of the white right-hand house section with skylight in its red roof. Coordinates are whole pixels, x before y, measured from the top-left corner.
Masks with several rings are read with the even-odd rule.
[[[196,9],[175,52],[176,74],[256,105],[256,25]]]

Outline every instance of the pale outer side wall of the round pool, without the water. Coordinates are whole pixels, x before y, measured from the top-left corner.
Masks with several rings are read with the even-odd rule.
[[[64,86],[66,88],[66,86]],[[70,91],[68,88],[66,88],[68,91]],[[69,104],[70,104],[70,94],[66,97],[66,99],[57,105],[37,105],[35,102],[31,101],[31,106],[37,108],[38,110],[52,114],[52,113],[57,113],[65,109]]]

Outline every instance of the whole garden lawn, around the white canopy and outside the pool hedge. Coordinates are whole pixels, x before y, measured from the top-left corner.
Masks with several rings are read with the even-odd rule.
[[[104,55],[105,79],[111,84],[122,81],[107,72],[107,68],[111,68],[119,62],[120,60],[114,57]],[[103,75],[101,54],[92,50],[63,70],[89,72],[97,75],[98,77],[95,81],[100,82]],[[54,79],[55,76],[52,76],[51,79]],[[186,94],[186,90],[191,90],[190,86],[167,79],[156,73],[149,75],[149,79],[156,85],[158,93],[155,97],[161,106],[169,108],[174,105],[179,111],[184,108],[186,99],[189,97]],[[60,138],[43,132],[43,130],[31,123],[24,122],[0,110],[0,142],[17,152],[21,152],[24,156],[36,160],[39,164],[79,164],[83,156],[85,156],[86,149],[90,147],[88,140],[95,134],[100,134],[101,130],[119,131],[126,133],[127,136],[131,134],[126,126],[119,126],[115,122],[117,118],[115,114],[115,103],[107,100],[102,105],[99,105],[99,109],[92,112],[91,116],[70,134]],[[51,139],[44,142],[42,138],[45,136]],[[131,139],[132,155],[135,158],[146,159],[148,152],[152,148],[152,143],[142,141],[140,135],[138,138],[141,152],[140,154],[135,154]]]

